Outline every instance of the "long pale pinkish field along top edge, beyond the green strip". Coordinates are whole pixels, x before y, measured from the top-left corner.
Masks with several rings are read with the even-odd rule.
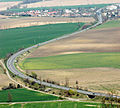
[[[27,4],[27,8],[120,3],[120,0],[50,0]]]

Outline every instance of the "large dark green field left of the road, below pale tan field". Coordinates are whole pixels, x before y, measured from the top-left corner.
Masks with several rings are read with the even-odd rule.
[[[0,30],[0,58],[19,48],[45,42],[78,29],[78,23],[64,23]]]

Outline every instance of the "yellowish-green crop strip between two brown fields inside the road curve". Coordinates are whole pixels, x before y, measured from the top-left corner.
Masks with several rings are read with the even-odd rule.
[[[19,66],[22,69],[72,69],[113,67],[120,68],[120,53],[79,53],[27,58]]]

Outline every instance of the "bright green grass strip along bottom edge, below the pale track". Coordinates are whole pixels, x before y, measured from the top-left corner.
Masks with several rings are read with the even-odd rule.
[[[97,108],[97,103],[87,102],[45,102],[23,104],[22,108]],[[21,108],[21,104],[0,105],[0,108]]]

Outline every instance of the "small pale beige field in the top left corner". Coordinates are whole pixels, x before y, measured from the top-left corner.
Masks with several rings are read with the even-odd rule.
[[[12,7],[14,5],[17,5],[21,3],[21,1],[15,1],[15,2],[0,2],[0,11],[7,10],[7,8]]]

